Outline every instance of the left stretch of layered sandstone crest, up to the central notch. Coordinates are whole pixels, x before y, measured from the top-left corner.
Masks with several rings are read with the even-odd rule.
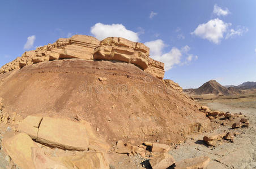
[[[21,57],[3,65],[0,73],[10,72],[14,69],[23,68],[26,65],[36,64],[43,61],[57,59],[93,59],[93,51],[100,41],[87,35],[73,35],[71,38],[59,38],[56,42],[36,50],[26,51]]]

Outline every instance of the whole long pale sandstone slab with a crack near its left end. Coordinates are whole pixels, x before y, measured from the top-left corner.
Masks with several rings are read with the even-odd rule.
[[[88,149],[87,126],[68,119],[28,116],[19,124],[19,131],[27,133],[41,144],[67,150]]]

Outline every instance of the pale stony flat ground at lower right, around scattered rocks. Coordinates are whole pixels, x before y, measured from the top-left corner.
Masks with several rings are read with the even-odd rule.
[[[228,131],[240,132],[240,135],[234,137],[234,143],[224,142],[216,148],[208,148],[203,143],[203,136],[200,134],[193,136],[177,149],[169,153],[173,155],[176,161],[185,158],[207,155],[211,158],[208,169],[210,168],[256,168],[256,101],[250,103],[204,103],[210,109],[221,110],[223,112],[240,113],[249,118],[250,127],[231,129],[231,126],[221,126],[211,133],[221,133]]]

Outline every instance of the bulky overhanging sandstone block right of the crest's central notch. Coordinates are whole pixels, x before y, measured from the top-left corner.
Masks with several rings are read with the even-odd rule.
[[[147,69],[150,48],[139,42],[132,42],[124,38],[109,37],[100,42],[95,49],[93,59],[119,60],[132,63],[140,68]]]

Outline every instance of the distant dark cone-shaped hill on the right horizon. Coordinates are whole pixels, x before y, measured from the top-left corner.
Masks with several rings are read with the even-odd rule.
[[[224,87],[215,80],[208,81],[204,83],[202,86],[200,86],[199,88],[196,88],[196,89],[189,88],[183,91],[193,95],[207,95],[207,94],[236,95],[241,93],[241,91],[238,88]]]

